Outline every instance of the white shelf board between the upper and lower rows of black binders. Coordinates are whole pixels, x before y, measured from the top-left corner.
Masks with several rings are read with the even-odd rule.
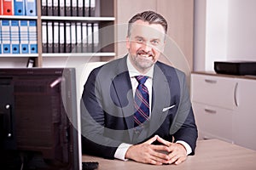
[[[114,17],[41,16],[41,20],[114,21]]]

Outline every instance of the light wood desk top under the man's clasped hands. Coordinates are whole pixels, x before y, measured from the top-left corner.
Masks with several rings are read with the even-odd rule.
[[[136,161],[107,160],[96,156],[83,156],[83,161],[98,161],[99,170],[103,169],[182,169],[182,170],[255,170],[256,151],[248,150],[236,144],[226,143],[218,139],[198,140],[195,156],[188,156],[188,159],[180,165],[154,166]]]

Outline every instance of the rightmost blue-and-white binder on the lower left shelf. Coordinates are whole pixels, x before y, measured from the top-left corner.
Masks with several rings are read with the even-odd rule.
[[[28,21],[28,41],[29,41],[29,53],[38,53],[38,35],[37,35],[37,21]]]

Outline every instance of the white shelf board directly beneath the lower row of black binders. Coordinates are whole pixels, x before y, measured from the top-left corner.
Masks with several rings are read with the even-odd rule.
[[[115,56],[115,53],[51,53],[51,54],[42,54],[42,57],[112,57]]]

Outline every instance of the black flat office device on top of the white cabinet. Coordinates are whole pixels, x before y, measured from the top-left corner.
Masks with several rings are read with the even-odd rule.
[[[215,61],[214,71],[230,75],[256,75],[256,61]]]

